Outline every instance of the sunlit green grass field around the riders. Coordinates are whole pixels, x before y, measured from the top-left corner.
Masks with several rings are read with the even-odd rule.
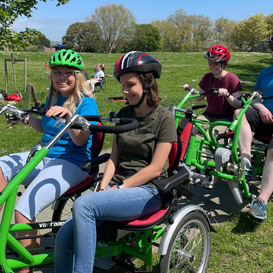
[[[204,52],[198,53],[170,53],[154,52],[154,56],[159,56],[162,63],[162,76],[158,80],[159,90],[162,96],[162,105],[170,107],[177,105],[185,92],[182,85],[188,83],[192,87],[198,88],[198,83],[205,73],[208,72],[207,61],[204,60]],[[89,76],[94,73],[96,63],[105,64],[106,92],[96,93],[101,115],[108,116],[110,111],[116,111],[124,106],[124,102],[105,101],[99,103],[107,97],[122,96],[121,85],[113,76],[113,66],[121,54],[81,54]],[[232,57],[227,67],[227,71],[236,74],[241,80],[245,92],[251,92],[256,82],[259,72],[273,64],[270,54],[254,52],[232,52]],[[49,70],[44,69],[45,62],[49,61],[51,53],[20,52],[21,59],[27,58],[27,82],[34,84],[35,91],[40,102],[45,102],[47,97],[47,76]],[[8,52],[0,52],[0,90],[5,91],[4,80],[4,59],[10,58]],[[17,62],[16,80],[17,90],[23,91],[23,63]],[[8,86],[9,94],[14,93],[13,72],[11,63],[8,63]],[[195,101],[194,101],[195,102]],[[187,107],[191,106],[190,102]],[[22,103],[17,104],[18,107]],[[202,110],[200,110],[202,111]],[[8,153],[27,151],[36,144],[41,134],[34,132],[26,125],[20,124],[12,130],[7,130],[4,124],[5,118],[0,120],[0,156]],[[105,139],[104,148],[111,147],[112,136]],[[216,185],[220,186],[220,185]],[[235,200],[230,200],[235,202]],[[268,219],[263,224],[256,224],[248,219],[243,213],[232,215],[229,221],[216,225],[217,234],[212,234],[212,250],[207,272],[273,272],[273,220],[272,203],[268,204]],[[156,260],[156,259],[155,259]],[[157,263],[157,262],[155,262]],[[115,272],[125,272],[123,270]],[[157,272],[155,266],[154,272]]]

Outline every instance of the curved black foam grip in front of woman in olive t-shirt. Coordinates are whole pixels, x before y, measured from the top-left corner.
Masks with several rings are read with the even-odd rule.
[[[120,118],[119,126],[98,126],[90,124],[89,131],[95,131],[99,133],[124,133],[134,130],[138,127],[138,121],[132,118]]]

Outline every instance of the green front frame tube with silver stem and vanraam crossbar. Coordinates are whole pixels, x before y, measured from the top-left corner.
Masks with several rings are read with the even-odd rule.
[[[55,222],[42,223],[30,223],[30,224],[14,224],[11,225],[11,218],[13,214],[14,205],[16,202],[16,195],[19,185],[22,181],[31,173],[32,170],[38,165],[38,163],[43,160],[43,158],[48,154],[49,149],[57,142],[57,140],[72,126],[79,118],[79,115],[72,116],[67,124],[58,132],[54,138],[45,146],[37,151],[29,162],[7,183],[3,191],[0,193],[0,205],[4,204],[5,207],[0,224],[0,265],[4,267],[5,272],[13,272],[12,269],[20,269],[25,267],[33,267],[37,265],[51,264],[54,262],[54,254],[38,254],[32,256],[14,237],[9,233],[11,231],[22,231],[22,230],[35,230],[48,228],[49,226],[54,226]],[[62,225],[64,221],[57,221],[58,226]],[[6,243],[16,251],[21,258],[6,259],[5,248]],[[12,268],[12,269],[11,269]]]

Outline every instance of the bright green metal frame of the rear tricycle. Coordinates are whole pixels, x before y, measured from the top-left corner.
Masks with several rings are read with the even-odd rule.
[[[185,102],[188,99],[192,99],[199,96],[200,94],[192,95],[189,92],[177,105],[176,109],[182,109],[182,106],[185,104]],[[203,136],[204,139],[199,139],[195,135],[190,136],[189,146],[188,146],[188,150],[187,150],[187,153],[185,156],[185,162],[184,162],[186,165],[193,166],[197,168],[198,170],[206,173],[209,176],[216,176],[224,180],[240,181],[241,185],[239,186],[239,189],[243,191],[243,196],[245,198],[251,198],[252,194],[250,194],[248,191],[248,185],[244,175],[240,177],[240,175],[237,175],[235,173],[231,174],[231,172],[228,171],[226,166],[224,165],[222,166],[223,170],[221,172],[215,171],[213,170],[215,169],[215,161],[209,161],[209,160],[203,159],[203,156],[208,154],[213,156],[215,154],[215,151],[218,148],[220,147],[226,148],[231,150],[230,162],[233,162],[233,164],[236,164],[239,167],[241,166],[241,161],[238,157],[239,150],[237,148],[241,122],[242,122],[242,117],[247,111],[248,107],[250,106],[254,96],[255,94],[253,93],[253,95],[247,101],[242,99],[242,101],[244,102],[244,106],[242,107],[241,111],[239,112],[235,120],[232,121],[232,123],[227,121],[215,121],[213,123],[209,123],[208,121],[204,121],[204,120],[192,119],[192,123],[201,132],[201,135]],[[178,126],[179,121],[184,117],[185,115],[181,114],[178,111],[175,111],[176,126]],[[208,130],[209,136],[207,136],[207,133],[203,129],[202,124],[209,124],[209,130]],[[225,126],[228,128],[230,132],[236,129],[232,144],[223,145],[216,141],[215,136],[213,135],[213,129],[216,126]],[[210,150],[210,153],[203,152],[203,149],[205,146],[207,146],[207,148]],[[257,152],[257,154],[261,154],[261,153]]]

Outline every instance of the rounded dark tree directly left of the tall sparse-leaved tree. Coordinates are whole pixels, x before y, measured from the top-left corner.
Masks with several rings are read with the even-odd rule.
[[[93,21],[76,22],[67,28],[62,43],[77,52],[100,52],[100,28]]]

